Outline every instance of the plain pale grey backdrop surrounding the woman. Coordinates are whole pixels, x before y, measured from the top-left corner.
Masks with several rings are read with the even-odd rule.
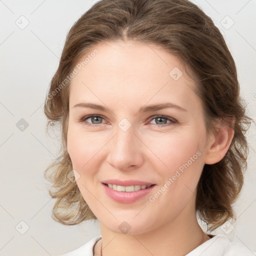
[[[43,102],[71,25],[96,1],[0,0],[0,255],[58,255],[100,235],[99,223],[52,220],[54,199],[43,171],[55,158],[58,131],[45,133]],[[220,28],[234,57],[248,114],[256,109],[256,1],[194,0]],[[237,220],[214,233],[256,250],[255,125]],[[205,228],[204,224],[201,223]],[[232,229],[232,230],[231,230]]]

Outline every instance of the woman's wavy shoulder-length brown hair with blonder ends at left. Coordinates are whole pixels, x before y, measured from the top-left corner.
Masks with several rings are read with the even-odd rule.
[[[44,104],[47,128],[59,123],[62,135],[59,155],[44,173],[52,182],[49,193],[56,198],[53,218],[66,225],[96,219],[76,182],[67,177],[72,170],[66,149],[70,82],[63,81],[85,53],[106,40],[156,43],[187,64],[197,77],[207,130],[212,130],[216,118],[229,125],[228,120],[235,118],[234,136],[227,153],[219,162],[204,165],[196,194],[196,210],[208,224],[208,230],[233,218],[232,204],[246,169],[245,132],[251,119],[245,114],[235,63],[219,29],[188,0],[100,0],[69,30]]]

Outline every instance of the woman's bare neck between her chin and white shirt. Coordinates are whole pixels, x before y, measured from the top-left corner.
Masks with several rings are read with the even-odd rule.
[[[190,213],[187,214],[187,213]],[[102,256],[140,255],[140,256],[181,256],[185,255],[209,237],[200,228],[196,214],[182,212],[169,222],[151,231],[139,234],[123,234],[109,230],[100,222],[102,239],[95,246],[95,252]],[[121,245],[121,246],[120,246]]]

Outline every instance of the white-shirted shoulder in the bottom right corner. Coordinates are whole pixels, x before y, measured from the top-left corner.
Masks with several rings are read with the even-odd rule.
[[[252,256],[253,251],[242,243],[230,242],[224,235],[217,234],[202,243],[186,256]]]

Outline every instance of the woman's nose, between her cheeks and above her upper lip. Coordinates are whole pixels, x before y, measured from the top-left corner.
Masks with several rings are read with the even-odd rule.
[[[126,131],[117,127],[110,141],[107,162],[119,170],[137,168],[143,161],[143,146],[132,126]]]

